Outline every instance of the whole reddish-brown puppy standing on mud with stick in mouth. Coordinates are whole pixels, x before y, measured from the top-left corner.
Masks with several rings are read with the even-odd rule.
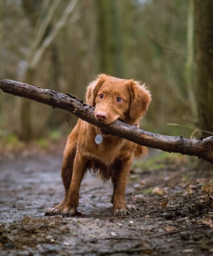
[[[86,103],[95,107],[95,118],[104,124],[111,124],[120,118],[138,125],[150,101],[150,92],[144,84],[105,74],[92,81],[86,92]],[[100,144],[95,143],[98,134],[103,136]],[[81,181],[87,169],[101,175],[103,180],[112,179],[114,215],[125,215],[128,210],[134,210],[134,206],[125,206],[124,203],[127,177],[134,155],[138,157],[146,153],[146,147],[112,136],[79,119],[69,134],[63,155],[61,177],[65,187],[64,199],[57,206],[47,209],[46,215],[75,215]]]

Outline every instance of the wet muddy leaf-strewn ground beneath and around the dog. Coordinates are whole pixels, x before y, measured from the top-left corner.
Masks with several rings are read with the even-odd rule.
[[[112,186],[86,175],[78,216],[44,216],[63,198],[61,155],[0,157],[0,255],[211,255],[213,172],[185,157],[132,166],[126,200],[113,217]]]

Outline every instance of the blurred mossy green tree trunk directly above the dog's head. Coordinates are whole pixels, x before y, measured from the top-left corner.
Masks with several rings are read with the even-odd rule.
[[[121,77],[123,75],[121,29],[118,17],[118,1],[97,0],[100,21],[101,73]]]

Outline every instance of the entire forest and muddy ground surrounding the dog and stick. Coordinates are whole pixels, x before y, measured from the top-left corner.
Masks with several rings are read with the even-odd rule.
[[[141,80],[152,94],[141,128],[200,140],[213,134],[212,17],[213,0],[0,0],[0,80],[79,99],[98,73]],[[0,90],[0,255],[213,252],[213,165],[195,156],[135,159],[125,200],[137,211],[126,218],[113,217],[111,183],[89,173],[78,215],[43,216],[63,198],[76,121]]]

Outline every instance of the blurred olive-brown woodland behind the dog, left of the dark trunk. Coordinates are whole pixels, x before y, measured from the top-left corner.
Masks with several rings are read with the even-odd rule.
[[[193,130],[167,125],[197,122],[190,3],[0,0],[0,80],[27,82],[80,99],[98,73],[141,80],[152,94],[141,128],[190,137]],[[66,136],[71,130],[67,116],[65,111],[0,92],[2,142]],[[69,116],[71,126],[76,120]]]

